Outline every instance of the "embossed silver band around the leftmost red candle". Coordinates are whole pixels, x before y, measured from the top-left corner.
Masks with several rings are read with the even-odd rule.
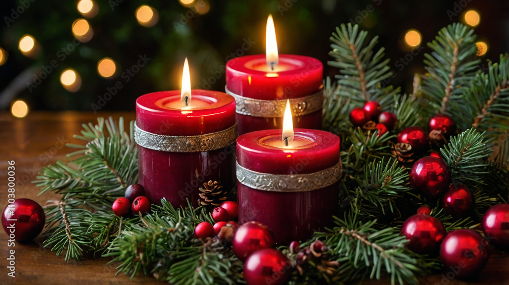
[[[200,136],[164,136],[139,129],[134,122],[134,140],[139,146],[168,152],[201,152],[227,147],[237,139],[237,122],[230,128]]]

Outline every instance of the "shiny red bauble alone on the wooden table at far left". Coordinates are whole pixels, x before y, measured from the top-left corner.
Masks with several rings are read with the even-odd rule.
[[[12,200],[11,200],[12,202]],[[12,205],[12,206],[11,206]],[[44,228],[46,216],[41,205],[30,199],[16,199],[2,213],[2,227],[9,239],[31,240]]]

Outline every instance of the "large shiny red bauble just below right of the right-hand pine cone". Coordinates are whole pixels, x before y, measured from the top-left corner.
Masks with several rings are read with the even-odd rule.
[[[450,170],[443,160],[425,156],[414,163],[409,178],[414,189],[435,197],[449,186]]]

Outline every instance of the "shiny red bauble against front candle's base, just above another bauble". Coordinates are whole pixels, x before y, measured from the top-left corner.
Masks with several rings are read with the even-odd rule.
[[[237,229],[233,237],[233,254],[245,261],[254,251],[273,247],[274,234],[258,221],[248,221]]]

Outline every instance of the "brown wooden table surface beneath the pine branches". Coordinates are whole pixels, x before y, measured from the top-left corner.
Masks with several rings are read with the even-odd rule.
[[[134,119],[134,113],[98,113],[92,112],[36,112],[26,118],[15,119],[9,113],[0,113],[0,207],[7,205],[7,161],[14,160],[16,166],[16,199],[30,198],[44,205],[47,200],[58,199],[57,195],[45,193],[37,196],[40,189],[32,183],[23,183],[35,179],[41,166],[65,160],[70,152],[60,147],[60,142],[81,143],[72,138],[81,130],[82,123],[96,122],[98,116],[112,116],[118,119]],[[30,180],[29,180],[30,178]],[[8,236],[0,230],[0,268],[2,284],[121,284],[129,278],[119,273],[115,276],[115,265],[107,265],[109,259],[87,259],[77,263],[66,263],[64,257],[42,247],[42,237],[33,242],[16,242],[15,278],[9,277]],[[441,274],[420,278],[421,284],[509,284],[509,254],[493,250],[487,268],[480,275],[468,281],[444,279]],[[164,284],[152,277],[137,276],[131,283]],[[366,281],[365,284],[383,284],[385,281]]]

